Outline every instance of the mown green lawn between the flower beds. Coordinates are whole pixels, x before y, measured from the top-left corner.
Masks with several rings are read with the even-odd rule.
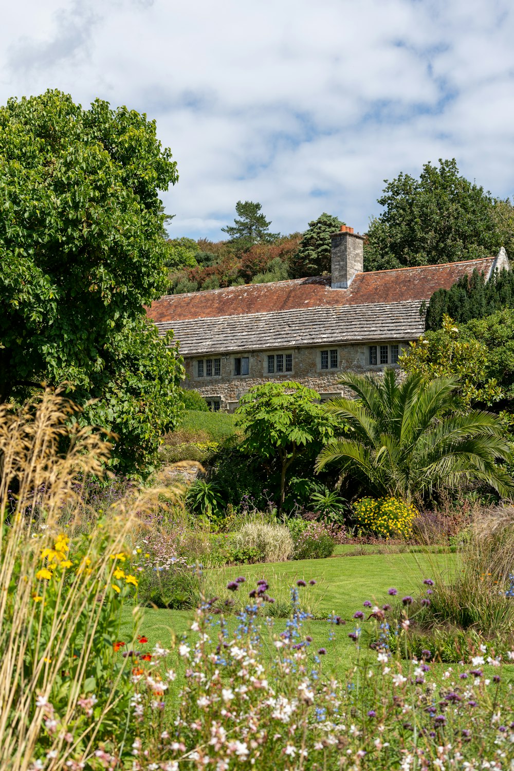
[[[303,560],[277,564],[244,565],[210,571],[207,582],[211,588],[223,590],[227,581],[239,575],[247,579],[245,595],[253,588],[255,581],[266,577],[270,584],[271,596],[287,598],[289,588],[299,578],[309,581],[316,579],[314,588],[302,588],[301,592],[310,601],[316,598],[318,615],[326,618],[331,611],[347,621],[345,626],[334,626],[335,639],[328,643],[329,625],[326,621],[309,621],[306,634],[312,635],[319,647],[327,648],[327,663],[338,668],[346,667],[351,661],[354,644],[348,638],[353,630],[353,614],[363,608],[363,602],[370,600],[377,604],[388,601],[388,588],[395,586],[401,594],[416,594],[422,589],[425,577],[435,577],[439,572],[452,570],[455,556],[452,554],[380,554],[348,559]],[[212,584],[215,584],[212,587]],[[309,594],[311,593],[311,594]],[[217,591],[216,594],[221,594]],[[224,592],[224,594],[229,594]],[[222,595],[223,596],[223,595]],[[167,611],[146,608],[141,631],[153,645],[157,641],[164,646],[170,644],[173,635],[180,636],[190,626],[192,611]],[[236,621],[231,622],[235,625]],[[283,618],[276,620],[275,631],[284,628]],[[122,639],[132,636],[132,608],[123,611]],[[366,653],[367,655],[367,653]]]

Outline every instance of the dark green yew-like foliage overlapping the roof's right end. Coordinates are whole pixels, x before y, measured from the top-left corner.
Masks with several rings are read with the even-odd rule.
[[[496,272],[486,281],[484,274],[475,269],[471,276],[462,276],[451,288],[434,292],[425,315],[425,329],[441,328],[445,315],[460,324],[512,307],[514,273]]]

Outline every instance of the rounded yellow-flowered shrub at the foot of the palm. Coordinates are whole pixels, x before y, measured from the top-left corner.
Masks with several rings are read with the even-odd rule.
[[[408,538],[418,516],[412,504],[398,498],[361,498],[354,503],[355,524],[365,535]]]

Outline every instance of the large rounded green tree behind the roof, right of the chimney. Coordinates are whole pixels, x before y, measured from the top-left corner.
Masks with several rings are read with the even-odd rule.
[[[365,244],[365,270],[471,260],[512,241],[512,210],[459,174],[455,158],[425,163],[419,179],[385,180]]]

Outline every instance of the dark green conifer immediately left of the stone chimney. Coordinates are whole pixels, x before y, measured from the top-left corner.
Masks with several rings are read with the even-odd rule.
[[[331,272],[331,234],[336,233],[344,222],[331,214],[320,214],[301,239],[297,254],[291,259],[291,278],[321,276]]]

